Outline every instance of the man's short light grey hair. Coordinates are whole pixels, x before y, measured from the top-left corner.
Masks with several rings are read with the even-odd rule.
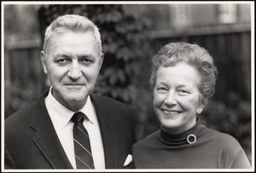
[[[99,28],[88,18],[77,14],[65,14],[55,19],[46,29],[44,37],[44,52],[47,54],[54,34],[63,32],[92,32],[96,38],[99,54],[102,53],[102,41]]]

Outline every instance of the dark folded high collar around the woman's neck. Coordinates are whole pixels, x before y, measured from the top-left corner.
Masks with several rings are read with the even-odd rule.
[[[191,134],[198,138],[201,132],[206,129],[206,126],[200,123],[199,118],[196,119],[196,124],[191,129],[184,131],[181,134],[171,135],[163,130],[160,130],[160,141],[166,143],[169,146],[181,146],[188,145],[187,137]],[[196,139],[197,140],[197,139]],[[196,142],[196,141],[195,141]]]

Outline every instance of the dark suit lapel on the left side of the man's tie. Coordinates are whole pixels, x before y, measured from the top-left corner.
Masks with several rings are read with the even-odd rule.
[[[37,130],[33,141],[49,164],[55,169],[73,169],[67,159],[67,155],[61,146],[61,142],[55,133],[54,126],[49,118],[49,114],[44,104],[44,97],[48,94],[46,91],[39,99],[36,108],[32,112],[31,127]]]

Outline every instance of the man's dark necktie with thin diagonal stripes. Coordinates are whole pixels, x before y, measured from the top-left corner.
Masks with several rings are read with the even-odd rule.
[[[73,114],[73,142],[77,169],[94,169],[92,154],[90,150],[90,139],[85,130],[83,121],[84,113],[76,112]]]

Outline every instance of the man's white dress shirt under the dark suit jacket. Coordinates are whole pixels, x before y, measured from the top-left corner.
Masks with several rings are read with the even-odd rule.
[[[51,89],[52,87],[50,87],[49,91],[51,91]],[[73,165],[73,168],[76,168],[73,145],[73,122],[71,120],[74,112],[67,109],[66,107],[63,107],[61,103],[56,101],[51,92],[49,92],[49,95],[45,97],[44,101],[47,111],[49,112],[49,117],[54,124],[57,136],[61,141],[61,145],[64,148],[65,153],[67,154],[67,158]],[[95,107],[90,101],[90,96],[88,96],[84,107],[78,112],[83,112],[89,119],[88,120],[87,118],[84,118],[83,124],[90,136],[90,147],[95,169],[105,169],[101,130],[96,118]]]

